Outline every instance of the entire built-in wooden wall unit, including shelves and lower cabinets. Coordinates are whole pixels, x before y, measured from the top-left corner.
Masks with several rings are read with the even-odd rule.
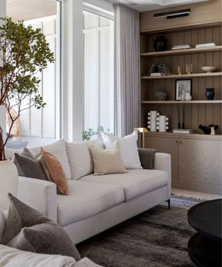
[[[147,127],[148,111],[169,118],[168,132],[148,132],[144,147],[171,154],[172,188],[221,194],[222,177],[222,36],[221,0],[193,3],[187,17],[155,19],[156,10],[140,15],[141,127]],[[178,7],[158,10],[159,13]],[[154,51],[157,35],[167,38],[167,51]],[[214,42],[216,47],[171,50],[174,45]],[[153,64],[165,63],[170,76],[145,76]],[[178,65],[193,66],[192,74],[177,75]],[[201,67],[215,66],[216,72],[203,73]],[[191,79],[191,101],[176,101],[176,79]],[[214,88],[214,100],[206,100],[205,89]],[[157,101],[155,92],[167,92],[166,101]],[[173,133],[178,128],[178,110],[184,110],[186,129],[194,133]],[[180,114],[181,115],[181,114]],[[204,134],[200,124],[217,124],[216,135]]]

